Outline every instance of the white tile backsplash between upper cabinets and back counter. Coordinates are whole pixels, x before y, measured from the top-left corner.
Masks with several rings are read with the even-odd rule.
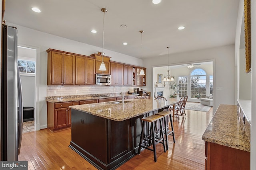
[[[108,94],[118,92],[133,92],[137,86],[47,86],[47,96],[71,96],[71,95],[84,95],[84,94]],[[143,89],[146,90],[146,89]]]

